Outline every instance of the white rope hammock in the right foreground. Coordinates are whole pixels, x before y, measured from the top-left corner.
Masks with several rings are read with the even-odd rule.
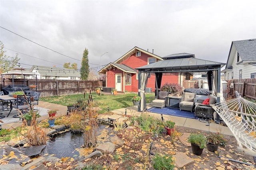
[[[256,103],[239,95],[211,106],[230,128],[238,142],[238,149],[256,156]]]

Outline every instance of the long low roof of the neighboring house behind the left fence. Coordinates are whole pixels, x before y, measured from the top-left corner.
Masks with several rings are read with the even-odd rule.
[[[33,65],[30,71],[33,71],[34,69],[36,69],[36,72],[40,75],[45,76],[80,77],[80,72],[74,69]]]

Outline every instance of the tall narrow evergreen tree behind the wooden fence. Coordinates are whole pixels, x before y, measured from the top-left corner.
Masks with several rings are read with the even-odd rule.
[[[83,58],[81,62],[80,75],[81,80],[87,80],[89,76],[89,59],[88,59],[88,49],[84,49]]]

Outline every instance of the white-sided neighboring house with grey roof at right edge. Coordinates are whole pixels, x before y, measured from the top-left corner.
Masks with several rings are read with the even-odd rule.
[[[256,78],[256,39],[233,41],[221,72],[226,80]]]

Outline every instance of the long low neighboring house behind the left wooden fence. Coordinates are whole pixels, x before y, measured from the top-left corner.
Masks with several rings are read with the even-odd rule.
[[[80,80],[80,72],[74,69],[33,65],[30,71],[38,79]]]

